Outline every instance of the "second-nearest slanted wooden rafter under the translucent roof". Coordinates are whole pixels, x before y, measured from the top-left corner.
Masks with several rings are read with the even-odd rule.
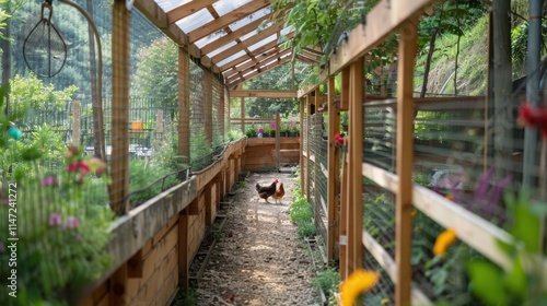
[[[269,0],[254,0],[245,5],[242,5],[230,13],[211,21],[197,30],[190,32],[188,34],[189,43],[195,43],[212,33],[221,30],[224,26],[228,26],[237,20],[241,20],[245,16],[253,14],[254,12],[261,10],[270,4]]]

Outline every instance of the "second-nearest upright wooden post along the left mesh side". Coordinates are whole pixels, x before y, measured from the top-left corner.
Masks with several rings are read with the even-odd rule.
[[[178,48],[178,155],[190,164],[190,56],[186,47]]]

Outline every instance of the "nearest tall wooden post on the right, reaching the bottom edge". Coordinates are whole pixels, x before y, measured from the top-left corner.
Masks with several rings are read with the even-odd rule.
[[[414,64],[417,51],[417,24],[407,22],[401,27],[398,51],[397,80],[397,176],[396,196],[396,254],[397,264],[395,301],[410,305],[411,233],[412,221],[412,162],[414,162]]]

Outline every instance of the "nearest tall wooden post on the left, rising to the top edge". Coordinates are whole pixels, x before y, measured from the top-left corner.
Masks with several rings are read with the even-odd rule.
[[[112,17],[112,184],[110,208],[129,211],[129,11],[116,0]],[[118,305],[118,304],[114,304]]]

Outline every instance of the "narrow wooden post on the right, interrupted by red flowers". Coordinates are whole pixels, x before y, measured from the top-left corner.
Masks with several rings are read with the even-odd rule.
[[[340,107],[349,108],[349,68],[341,71],[341,93]],[[346,103],[345,103],[346,101]],[[348,176],[348,153],[342,152],[342,178],[341,178],[341,201],[340,201],[340,280],[348,278],[348,210],[349,210],[349,176]]]

